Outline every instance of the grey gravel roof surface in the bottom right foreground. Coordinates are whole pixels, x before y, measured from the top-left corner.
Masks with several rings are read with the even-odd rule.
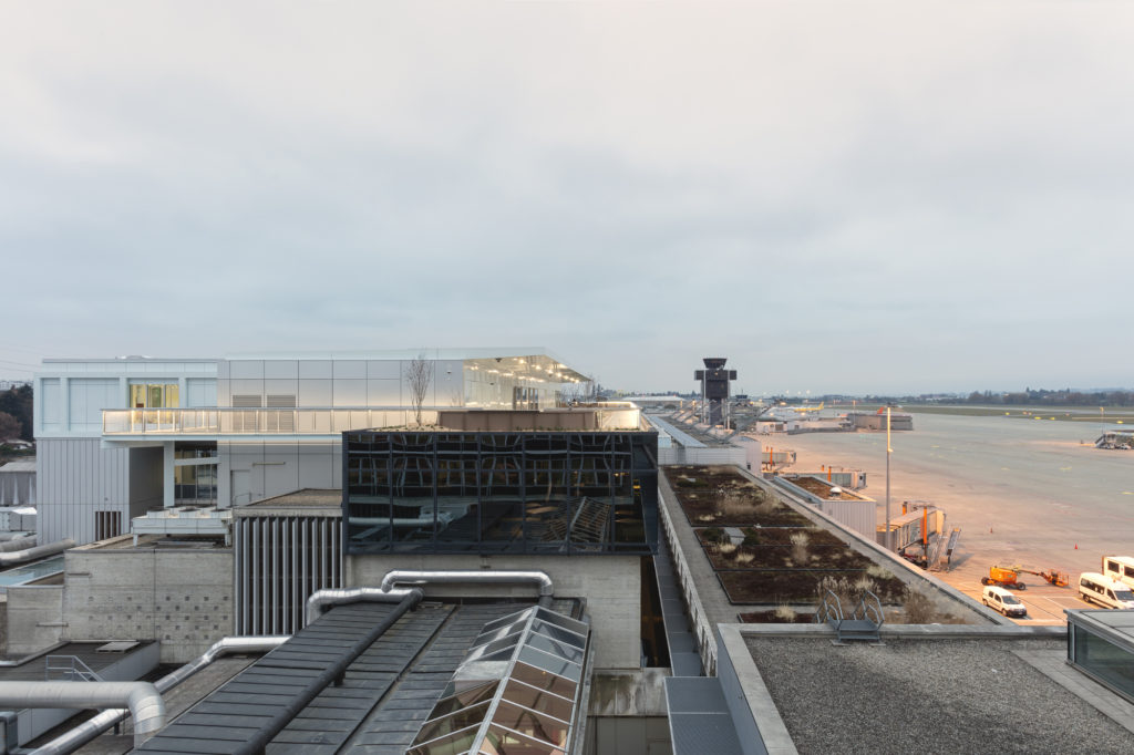
[[[1012,653],[1059,641],[746,642],[801,753],[1134,752],[1134,735]]]

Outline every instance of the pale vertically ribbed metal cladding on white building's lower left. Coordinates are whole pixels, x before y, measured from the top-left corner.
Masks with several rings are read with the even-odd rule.
[[[94,540],[94,512],[129,517],[129,449],[105,449],[98,438],[43,439],[36,472],[40,538]]]

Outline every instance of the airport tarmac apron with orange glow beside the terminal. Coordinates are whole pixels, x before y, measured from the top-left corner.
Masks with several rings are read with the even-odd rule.
[[[1016,593],[1029,609],[1021,623],[1063,623],[1064,609],[1089,608],[1077,596],[1080,572],[1098,571],[1105,554],[1134,555],[1134,493],[1126,489],[1134,453],[1095,449],[1084,439],[1084,429],[1069,423],[915,415],[912,432],[892,435],[891,516],[904,500],[945,509],[947,526],[962,532],[951,570],[938,576],[976,601],[981,577],[996,563],[1067,572],[1067,587],[1025,574],[1027,588]],[[796,452],[788,472],[865,470],[868,487],[860,492],[878,501],[885,520],[885,433],[759,440],[764,449]]]

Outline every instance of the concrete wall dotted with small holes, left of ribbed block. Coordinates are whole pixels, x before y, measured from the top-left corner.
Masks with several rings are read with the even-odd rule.
[[[156,639],[162,663],[185,663],[232,634],[231,549],[78,548],[65,563],[64,639]]]

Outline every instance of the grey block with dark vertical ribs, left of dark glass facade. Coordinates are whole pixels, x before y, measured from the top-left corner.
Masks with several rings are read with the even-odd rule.
[[[342,586],[338,517],[238,517],[234,523],[236,634],[294,634],[307,599]]]

